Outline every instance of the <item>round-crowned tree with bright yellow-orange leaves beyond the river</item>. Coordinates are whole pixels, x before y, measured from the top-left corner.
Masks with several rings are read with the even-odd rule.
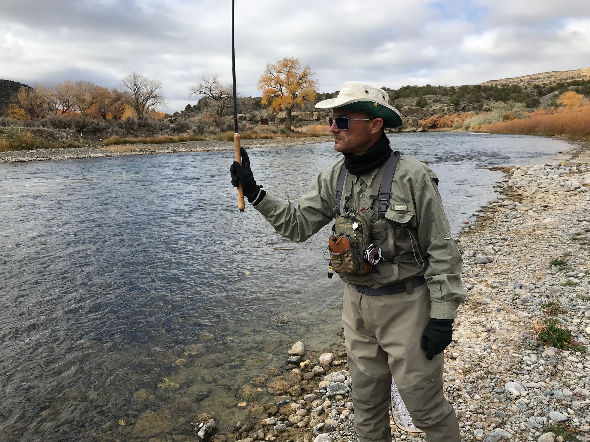
[[[270,105],[277,112],[284,110],[287,113],[287,130],[291,130],[293,108],[303,105],[305,100],[316,99],[316,80],[313,75],[309,65],[302,70],[299,59],[285,57],[274,64],[268,63],[258,80],[258,89],[263,91],[261,104]]]

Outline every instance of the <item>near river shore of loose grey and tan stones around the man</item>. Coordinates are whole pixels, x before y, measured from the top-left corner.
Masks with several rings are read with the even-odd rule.
[[[445,395],[464,441],[590,441],[590,150],[504,171],[500,199],[457,239],[468,298],[445,350]],[[257,401],[256,380],[244,385],[250,420],[212,440],[358,440],[343,339],[336,357],[293,345],[267,371],[275,400]]]

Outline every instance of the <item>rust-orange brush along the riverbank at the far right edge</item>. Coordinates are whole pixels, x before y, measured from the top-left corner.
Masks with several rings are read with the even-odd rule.
[[[529,114],[528,118],[482,124],[477,130],[501,134],[561,135],[590,141],[590,106],[563,107],[555,111],[542,109]]]

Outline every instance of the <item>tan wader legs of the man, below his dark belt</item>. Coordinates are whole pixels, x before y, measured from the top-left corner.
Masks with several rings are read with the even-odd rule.
[[[442,392],[442,353],[428,361],[420,348],[430,304],[426,284],[409,295],[386,296],[363,295],[346,285],[342,321],[360,442],[391,441],[392,377],[428,442],[460,442],[455,410]]]

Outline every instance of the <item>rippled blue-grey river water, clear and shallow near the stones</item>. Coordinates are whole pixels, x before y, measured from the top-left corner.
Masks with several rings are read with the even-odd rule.
[[[390,137],[431,161],[455,233],[497,196],[503,174],[482,168],[553,162],[568,149],[520,136]],[[295,200],[339,154],[319,143],[250,157],[258,183]],[[326,279],[322,259],[329,226],[298,244],[251,207],[238,213],[231,159],[0,164],[0,440],[133,440],[146,410],[181,434],[214,411],[223,431],[245,415],[238,388],[282,365],[290,344],[338,342],[342,282]],[[163,378],[179,388],[158,388]]]

